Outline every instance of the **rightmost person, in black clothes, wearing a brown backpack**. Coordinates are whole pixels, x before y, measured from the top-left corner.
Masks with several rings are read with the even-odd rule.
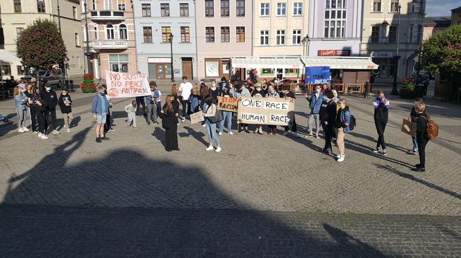
[[[413,170],[417,172],[425,172],[426,145],[429,142],[429,139],[425,136],[429,120],[429,117],[426,114],[426,104],[424,104],[422,101],[414,102],[414,111],[416,111],[418,117],[416,122],[416,140],[418,143],[419,164],[414,165],[416,168]]]

